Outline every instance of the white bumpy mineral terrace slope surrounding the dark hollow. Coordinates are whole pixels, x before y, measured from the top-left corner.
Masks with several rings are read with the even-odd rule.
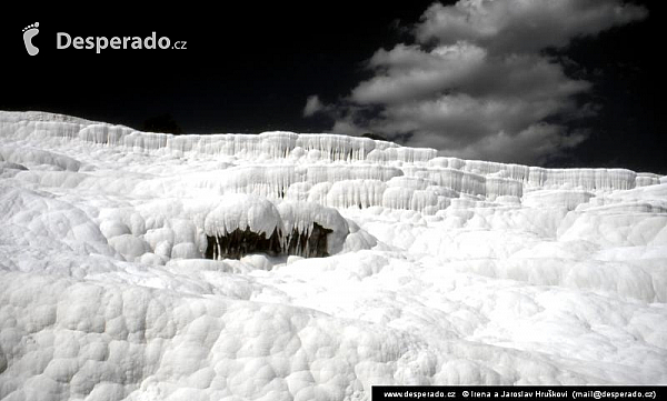
[[[206,260],[207,234],[328,258]],[[0,112],[0,399],[667,383],[667,178]]]

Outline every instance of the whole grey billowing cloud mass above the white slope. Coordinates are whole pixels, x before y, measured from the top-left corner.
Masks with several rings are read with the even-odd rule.
[[[577,101],[591,83],[568,77],[564,61],[542,50],[646,16],[620,0],[435,3],[412,31],[416,43],[379,49],[367,62],[372,78],[334,104],[309,97],[303,116],[330,116],[338,133],[539,164],[586,139],[563,121],[596,110]]]

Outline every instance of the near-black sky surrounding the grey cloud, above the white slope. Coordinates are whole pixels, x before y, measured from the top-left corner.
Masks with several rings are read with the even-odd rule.
[[[621,3],[620,0],[586,2]],[[367,102],[351,93],[374,77],[402,77],[404,70],[394,61],[368,67],[368,60],[379,49],[392,54],[391,49],[404,43],[411,46],[414,53],[428,56],[437,46],[452,44],[446,42],[449,38],[462,34],[447,33],[435,44],[420,42],[415,24],[431,3],[404,1],[401,6],[389,6],[385,1],[337,1],[312,2],[305,8],[248,2],[242,8],[222,6],[219,11],[195,10],[187,4],[160,11],[129,11],[121,6],[96,11],[26,9],[14,13],[2,27],[8,57],[3,57],[1,67],[6,82],[0,91],[0,109],[43,110],[135,128],[168,113],[183,131],[191,133],[330,132],[336,121],[348,121],[355,124],[354,129],[374,131],[409,146],[432,146],[440,148],[444,154],[450,149],[455,156],[508,162],[623,167],[667,173],[667,140],[661,117],[665,79],[659,61],[664,14],[656,7],[660,2],[635,1],[634,4],[643,4],[648,17],[567,40],[564,47],[535,48],[528,52],[527,58],[538,63],[542,59],[550,60],[551,67],[557,67],[555,71],[565,74],[561,80],[587,82],[585,90],[560,94],[561,104],[558,103],[556,111],[535,121],[506,121],[506,126],[499,128],[481,122],[476,128],[477,120],[484,122],[484,119],[477,119],[475,113],[461,114],[456,124],[449,119],[441,126],[434,123],[435,128],[397,128],[404,116],[397,110],[408,104],[400,103],[405,99],[398,103],[386,99]],[[539,16],[531,18],[532,22],[541,23]],[[29,57],[21,30],[36,21],[40,22],[40,33],[33,42],[40,52]],[[151,31],[158,37],[169,37],[172,42],[187,41],[187,50],[107,49],[97,54],[94,50],[56,49],[56,32],[71,37],[146,37]],[[506,37],[514,43],[531,40],[530,32],[524,33],[525,37],[518,32],[509,31]],[[18,39],[10,40],[11,37]],[[502,68],[510,69],[507,54],[514,50],[501,48],[496,39],[471,39],[470,42],[487,51],[489,60],[496,60],[484,67],[487,71],[496,68],[496,77],[480,72],[474,77],[477,83],[459,87],[459,82],[455,82],[444,87],[437,96],[457,101],[482,99],[484,104],[488,99],[500,103],[514,98],[520,101],[521,91],[498,98],[489,89],[498,84],[498,77],[511,73]],[[486,79],[489,83],[484,87]],[[519,77],[517,82],[526,80]],[[484,88],[476,89],[475,84]],[[475,93],[485,91],[488,93],[476,98]],[[317,96],[321,108],[307,118],[303,108],[311,96]],[[421,101],[424,99],[410,104],[426,104]],[[577,113],[583,117],[574,117]],[[412,117],[406,120],[411,121]],[[432,120],[432,116],[415,118],[415,121],[419,124],[428,119]],[[539,142],[521,142],[521,134],[532,132],[521,123],[557,128],[544,134],[552,148],[542,147],[540,153],[535,150],[540,148]],[[337,131],[341,132],[339,127]],[[479,134],[472,131],[476,129]],[[485,129],[507,132],[498,142],[502,144],[498,144],[497,151],[496,142],[486,140],[496,138],[495,132]]]

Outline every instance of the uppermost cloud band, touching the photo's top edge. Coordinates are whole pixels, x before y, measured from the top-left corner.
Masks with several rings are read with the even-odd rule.
[[[639,6],[617,0],[460,0],[429,7],[415,34],[420,42],[468,41],[492,52],[535,52],[564,47],[576,37],[591,36],[646,18]]]

